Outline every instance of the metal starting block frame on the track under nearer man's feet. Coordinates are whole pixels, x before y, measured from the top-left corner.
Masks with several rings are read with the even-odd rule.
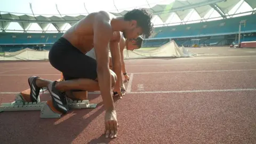
[[[97,103],[89,103],[89,100],[83,101],[68,101],[69,109],[95,108]],[[27,111],[27,110],[41,110],[41,118],[59,118],[61,114],[54,113],[51,108],[43,102],[24,102],[14,101],[10,103],[1,103],[0,113],[2,111]]]

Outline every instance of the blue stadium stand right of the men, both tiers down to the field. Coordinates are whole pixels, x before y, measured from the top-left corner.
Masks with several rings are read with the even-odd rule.
[[[256,41],[256,15],[245,15],[229,19],[191,23],[188,25],[165,26],[154,29],[154,36],[144,42],[146,46],[173,39],[178,45],[191,46],[191,39],[199,45],[229,45],[238,43],[239,22],[246,20],[241,26],[241,42]],[[153,41],[154,40],[154,41]]]

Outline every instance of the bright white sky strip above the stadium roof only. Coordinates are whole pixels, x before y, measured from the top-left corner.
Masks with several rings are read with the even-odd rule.
[[[154,6],[156,4],[170,4],[174,0],[147,0],[150,6]],[[76,16],[77,14],[86,14],[87,11],[89,13],[105,10],[111,12],[117,12],[118,10],[131,10],[135,7],[149,7],[146,0],[73,0],[73,1],[61,1],[61,0],[1,0],[0,11],[7,12],[16,12],[16,13],[31,13],[29,3],[33,6],[33,11],[35,14],[56,14],[59,15],[56,10],[56,5],[58,5],[58,9],[60,13],[65,14],[73,14],[72,16]],[[116,7],[114,6],[114,2]],[[15,5],[14,5],[15,3]],[[84,7],[87,9],[85,10]],[[96,6],[97,5],[97,6]]]

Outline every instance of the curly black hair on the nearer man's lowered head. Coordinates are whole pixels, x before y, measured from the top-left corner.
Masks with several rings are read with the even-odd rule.
[[[142,28],[142,35],[148,38],[153,33],[152,14],[147,9],[134,9],[124,14],[125,21],[135,20],[137,26]]]

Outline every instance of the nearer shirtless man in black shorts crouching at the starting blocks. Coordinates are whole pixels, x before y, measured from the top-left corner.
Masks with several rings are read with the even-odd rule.
[[[52,96],[53,107],[66,114],[68,105],[63,92],[100,90],[106,110],[106,138],[116,138],[118,124],[111,89],[121,77],[121,32],[129,39],[140,35],[148,38],[153,32],[151,18],[152,15],[146,9],[134,9],[123,17],[115,17],[105,11],[90,13],[68,29],[49,52],[51,65],[61,71],[65,81],[51,82],[32,76],[28,79],[30,98],[36,101],[40,87],[47,87]],[[85,55],[93,47],[96,60]],[[109,69],[109,49],[111,55],[115,55],[112,63],[116,74]],[[38,79],[40,80],[37,81]]]

